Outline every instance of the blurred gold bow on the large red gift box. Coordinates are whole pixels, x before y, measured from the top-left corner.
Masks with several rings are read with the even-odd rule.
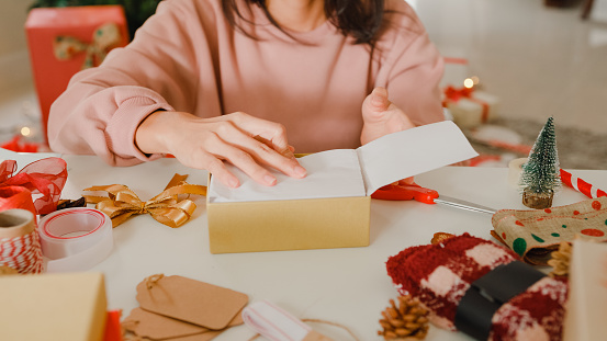
[[[78,38],[69,35],[58,35],[53,41],[53,52],[59,60],[68,60],[74,58],[79,53],[86,53],[82,69],[99,66],[108,53],[120,45],[122,35],[120,27],[115,23],[106,23],[93,31],[92,42],[83,43]]]

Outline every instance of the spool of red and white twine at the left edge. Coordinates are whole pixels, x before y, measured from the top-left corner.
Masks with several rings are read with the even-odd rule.
[[[35,216],[27,209],[0,212],[0,265],[19,273],[41,273],[43,258]]]

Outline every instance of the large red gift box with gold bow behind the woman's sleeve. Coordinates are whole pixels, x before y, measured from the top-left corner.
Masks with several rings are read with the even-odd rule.
[[[121,5],[36,8],[27,15],[25,32],[46,138],[50,104],[70,78],[128,44],[126,19]]]

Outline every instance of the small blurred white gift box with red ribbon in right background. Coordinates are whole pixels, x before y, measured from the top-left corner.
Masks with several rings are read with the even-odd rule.
[[[496,117],[499,99],[474,88],[445,89],[443,106],[462,128],[474,128]]]

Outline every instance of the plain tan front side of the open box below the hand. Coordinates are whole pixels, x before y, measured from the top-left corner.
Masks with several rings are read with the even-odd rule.
[[[369,246],[371,197],[209,203],[211,253]]]

